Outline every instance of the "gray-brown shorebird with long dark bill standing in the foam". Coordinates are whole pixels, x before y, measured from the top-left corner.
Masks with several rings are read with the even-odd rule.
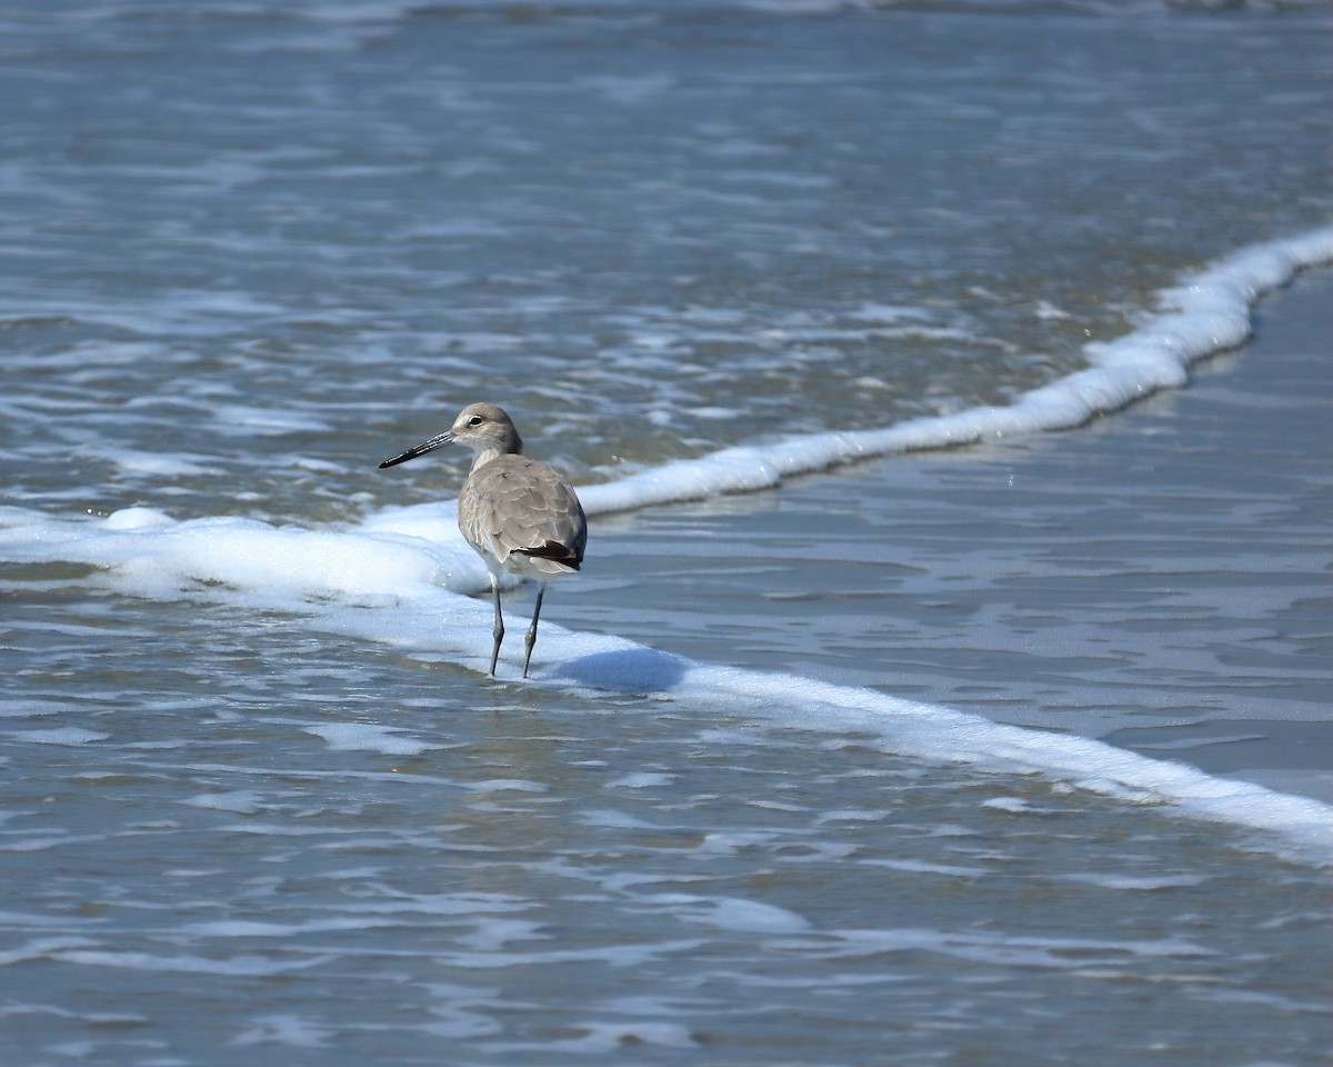
[[[500,575],[504,571],[537,582],[537,606],[523,642],[523,676],[528,676],[537,619],[547,583],[577,571],[588,543],[588,520],[573,485],[553,467],[523,453],[523,439],[504,408],[469,404],[437,437],[380,464],[393,467],[444,444],[473,451],[472,471],[459,493],[459,529],[491,571],[496,602],[491,676],[495,678],[504,640]]]

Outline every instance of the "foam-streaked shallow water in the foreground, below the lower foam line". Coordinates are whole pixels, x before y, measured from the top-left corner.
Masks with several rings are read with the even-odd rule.
[[[1193,1064],[1326,1036],[1322,875],[1234,828],[101,607],[7,624],[12,1063]]]

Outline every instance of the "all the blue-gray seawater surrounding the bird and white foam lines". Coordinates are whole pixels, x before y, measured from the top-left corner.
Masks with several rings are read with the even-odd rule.
[[[475,399],[580,483],[1002,403],[1328,221],[1329,27],[8,4],[0,504],[317,534],[451,493],[375,464]],[[1328,381],[1280,349],[601,520],[547,615],[1318,794]],[[7,1067],[1325,1062],[1326,871],[1254,830],[109,562],[0,598]]]

